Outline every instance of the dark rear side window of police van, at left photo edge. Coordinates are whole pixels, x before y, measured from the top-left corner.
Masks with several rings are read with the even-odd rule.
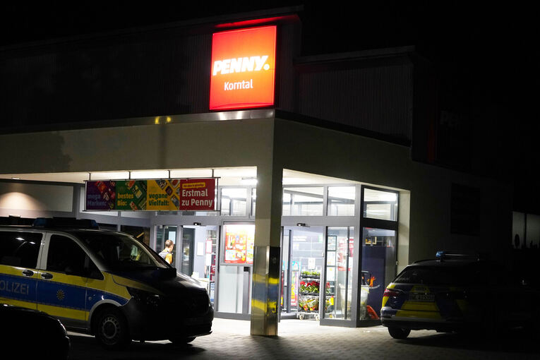
[[[36,268],[42,237],[38,232],[0,232],[0,265]]]

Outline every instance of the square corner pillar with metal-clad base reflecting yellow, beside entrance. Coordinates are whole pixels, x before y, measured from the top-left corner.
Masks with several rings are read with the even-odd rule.
[[[277,335],[283,167],[257,167],[251,335]]]

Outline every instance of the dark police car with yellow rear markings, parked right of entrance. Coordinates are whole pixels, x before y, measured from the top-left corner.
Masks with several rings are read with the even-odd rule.
[[[423,329],[491,335],[508,326],[535,328],[540,314],[531,304],[539,292],[518,280],[478,256],[439,251],[435,260],[404,268],[386,287],[380,320],[396,339]]]

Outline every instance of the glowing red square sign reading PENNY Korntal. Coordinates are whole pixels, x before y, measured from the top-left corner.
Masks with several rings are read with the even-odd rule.
[[[215,32],[210,110],[274,104],[276,28],[271,25]]]

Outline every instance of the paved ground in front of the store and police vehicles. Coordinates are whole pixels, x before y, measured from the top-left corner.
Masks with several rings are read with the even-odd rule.
[[[93,337],[70,333],[70,359],[540,359],[539,341],[522,330],[492,340],[422,330],[394,340],[382,326],[335,328],[314,320],[282,320],[278,337],[259,337],[249,335],[248,321],[220,318],[212,329],[212,335],[186,347],[133,342],[122,352],[105,352]]]

